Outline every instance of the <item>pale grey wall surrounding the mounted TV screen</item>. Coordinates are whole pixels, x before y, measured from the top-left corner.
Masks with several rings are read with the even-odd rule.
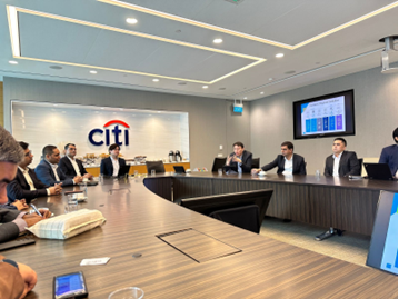
[[[251,149],[266,165],[280,153],[283,141],[293,140],[292,102],[355,89],[356,130],[347,137],[348,150],[359,158],[379,157],[392,144],[398,127],[398,74],[381,74],[380,68],[303,87],[251,102]],[[323,170],[332,138],[297,140],[296,152],[308,162],[308,173]]]

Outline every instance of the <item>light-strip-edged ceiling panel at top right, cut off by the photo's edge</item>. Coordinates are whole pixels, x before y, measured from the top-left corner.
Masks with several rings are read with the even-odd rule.
[[[269,1],[258,1],[257,6],[253,6],[251,1],[246,1],[240,6],[239,10],[235,10],[226,9],[223,4],[226,6],[228,3],[223,1],[213,1],[208,4],[206,10],[203,9],[193,14],[196,19],[188,19],[178,16],[180,14],[179,11],[177,11],[178,7],[176,7],[173,14],[157,10],[157,8],[154,8],[157,4],[152,4],[151,9],[121,0],[97,1],[290,50],[303,47],[398,7],[398,2],[392,2],[392,0],[363,0],[360,6],[359,4],[353,4],[348,1],[342,1],[342,4],[337,6],[336,1],[325,3],[319,0],[291,0],[276,1],[272,7],[270,7]],[[316,10],[318,13],[315,13],[315,8],[318,8]],[[319,20],[331,20],[331,18],[328,18],[331,11],[330,8],[338,9],[337,18],[333,19],[333,22],[329,23],[323,21],[321,22],[322,26],[313,27],[313,23]],[[270,16],[266,16],[267,13],[270,13]],[[293,13],[295,17],[287,18],[287,13]],[[242,16],[251,18],[251,22],[247,22],[247,18],[242,18]],[[237,22],[231,23],[231,20],[237,20]],[[279,24],[279,21],[282,23]],[[246,24],[251,24],[252,28],[242,30]],[[315,31],[315,37],[306,33],[311,32],[308,27],[318,30]],[[285,30],[287,30],[287,32]],[[298,30],[299,32],[297,32]],[[327,31],[322,33],[323,30]],[[293,33],[293,31],[296,32]],[[253,36],[246,32],[251,32]],[[282,39],[287,37],[290,40],[282,41]]]

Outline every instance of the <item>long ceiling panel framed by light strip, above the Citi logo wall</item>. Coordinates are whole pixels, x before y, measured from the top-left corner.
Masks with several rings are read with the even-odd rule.
[[[210,47],[203,47],[199,44],[193,43],[187,43],[178,40],[170,40],[161,37],[156,36],[149,36],[143,34],[139,32],[128,31],[123,29],[118,28],[111,28],[108,26],[102,26],[98,23],[90,23],[90,22],[83,22],[76,19],[69,19],[60,16],[53,16],[53,14],[47,14],[42,12],[37,11],[30,11],[26,9],[18,8],[17,11],[19,12],[19,18],[22,20],[21,27],[19,32],[20,37],[26,38],[26,41],[23,42],[23,47],[27,47],[27,49],[36,49],[32,50],[32,52],[36,51],[32,56],[23,54],[21,59],[30,59],[36,61],[43,61],[43,62],[52,62],[52,63],[63,63],[69,66],[77,66],[77,67],[86,67],[86,68],[97,68],[97,69],[103,69],[103,70],[111,70],[111,71],[121,71],[121,72],[130,72],[130,73],[137,73],[140,76],[151,76],[151,77],[161,77],[161,78],[169,78],[173,80],[180,80],[180,81],[191,81],[191,82],[198,82],[198,83],[215,83],[217,81],[220,81],[222,79],[228,78],[229,76],[233,76],[242,70],[246,70],[248,68],[251,68],[256,64],[262,63],[266,61],[266,59],[252,57],[243,53],[238,52],[231,52],[226,51],[221,49],[213,49]],[[36,26],[41,28],[30,28],[28,23],[30,23],[30,20],[32,18],[36,18],[34,23]],[[40,20],[38,20],[40,19]],[[62,21],[62,22],[61,22]],[[57,22],[57,26],[51,22]],[[60,23],[62,23],[60,26]],[[63,28],[66,32],[61,33],[59,32],[59,28]],[[104,29],[104,30],[101,30]],[[27,30],[29,33],[23,33],[24,30]],[[47,34],[44,33],[46,31]],[[37,39],[33,39],[36,37],[34,32],[42,32],[43,37],[50,37],[48,40],[51,42],[49,47],[44,47],[43,42],[38,43]],[[98,46],[92,47],[93,43],[98,42],[98,40],[101,40],[102,34],[108,34],[108,38],[104,38],[107,41],[106,46]],[[82,36],[82,37],[81,37]],[[120,42],[110,42],[109,37],[112,36],[114,39],[120,39]],[[130,36],[128,39],[126,36]],[[79,38],[78,38],[79,37]],[[80,38],[81,37],[81,38]],[[59,42],[57,42],[57,38],[59,38]],[[70,40],[71,39],[71,40]],[[93,42],[93,39],[96,39],[96,42]],[[149,48],[151,48],[150,51],[146,51],[146,58],[140,57],[138,52],[132,51],[131,47],[121,47],[123,44],[123,40],[129,40],[130,46],[134,44],[136,42],[132,42],[133,39],[141,39],[140,40],[140,47],[141,44],[149,43]],[[81,41],[82,44],[80,42]],[[59,46],[59,43],[63,43],[63,47],[59,47],[60,49],[68,49],[66,52],[62,51],[51,51],[51,53],[46,53],[46,49],[53,49],[53,44]],[[90,48],[93,49],[91,54],[88,53],[88,47],[91,43]],[[158,46],[154,46],[153,43],[158,43]],[[111,51],[110,48],[112,48],[112,44],[114,47],[119,47],[119,49],[124,49],[128,52],[127,59],[120,59],[120,56],[116,54],[116,51]],[[160,46],[161,44],[161,46]],[[71,47],[72,46],[72,47]],[[71,48],[73,46],[77,46],[78,48],[73,51],[71,51]],[[38,50],[38,47],[42,47],[40,50]],[[146,46],[143,47],[146,48]],[[168,57],[166,56],[166,52],[162,51],[162,49],[169,48],[170,53],[179,52],[179,50],[182,53],[188,53],[186,57],[179,56],[180,61],[178,60],[168,60]],[[86,49],[86,50],[84,50]],[[172,49],[172,50],[170,50]],[[181,50],[183,49],[183,51]],[[103,53],[104,57],[102,57],[100,64],[100,61],[96,61],[96,57],[98,54],[98,50],[104,50],[109,51],[108,53]],[[26,51],[23,51],[24,53]],[[153,71],[151,70],[144,70],[144,69],[126,69],[126,61],[130,61],[131,53],[134,53],[134,58],[138,58],[141,62],[147,59],[148,56],[152,56],[157,59],[167,59],[169,62],[173,61],[174,64],[169,67],[169,70],[172,70],[173,73],[160,73],[156,69]],[[201,53],[202,57],[199,57],[198,54]],[[56,57],[54,57],[56,56]],[[118,67],[114,64],[107,64],[111,59],[110,58],[117,58],[117,60],[123,61],[123,64]],[[188,57],[191,57],[191,59],[188,59]],[[186,59],[186,63],[181,63],[181,59]],[[189,74],[189,78],[179,77],[179,74],[184,76],[188,71],[179,70],[177,66],[181,66],[187,68],[188,64],[194,66],[198,62],[202,62],[202,67],[206,67],[207,63],[209,63],[209,67],[207,68],[207,78],[196,77],[196,73],[192,73],[194,68],[191,68],[191,74]],[[221,68],[212,68],[211,66],[215,63],[223,64],[225,67]],[[148,64],[149,69],[151,67],[153,68],[156,64]],[[134,66],[132,66],[133,68]],[[164,67],[164,66],[163,66]],[[164,72],[166,68],[160,68]],[[168,68],[167,68],[168,70]],[[215,73],[218,72],[219,73]],[[189,71],[190,72],[190,71]],[[213,72],[213,73],[212,73]],[[158,76],[160,74],[160,76]]]

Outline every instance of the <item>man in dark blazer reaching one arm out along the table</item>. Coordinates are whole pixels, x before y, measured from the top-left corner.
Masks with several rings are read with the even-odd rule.
[[[278,167],[278,175],[306,175],[306,163],[302,156],[293,153],[293,144],[291,142],[283,142],[281,144],[281,155],[277,156],[271,163],[263,166],[261,169],[252,169],[252,173],[260,171],[269,171]]]

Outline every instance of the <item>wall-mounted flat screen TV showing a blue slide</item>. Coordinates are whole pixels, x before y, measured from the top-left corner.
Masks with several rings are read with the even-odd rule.
[[[293,138],[353,136],[355,90],[293,103]]]

